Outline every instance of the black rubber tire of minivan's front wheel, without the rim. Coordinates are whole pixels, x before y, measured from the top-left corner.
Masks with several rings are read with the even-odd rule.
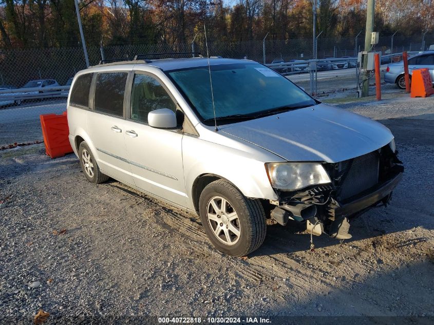
[[[207,210],[211,199],[215,197],[227,200],[229,206],[237,214],[240,235],[235,244],[224,244],[214,235],[211,228]],[[199,199],[199,214],[205,233],[213,245],[220,252],[231,256],[246,256],[257,250],[267,233],[266,215],[259,200],[246,198],[236,187],[225,180],[214,181],[203,189]]]

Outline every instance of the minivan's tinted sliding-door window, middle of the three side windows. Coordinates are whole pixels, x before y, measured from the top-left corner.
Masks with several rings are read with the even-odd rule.
[[[98,73],[93,106],[96,111],[123,116],[127,72]]]

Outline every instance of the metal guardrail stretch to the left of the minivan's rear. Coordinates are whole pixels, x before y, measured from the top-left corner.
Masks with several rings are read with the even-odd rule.
[[[56,87],[32,87],[0,90],[0,102],[6,101],[26,101],[32,99],[47,99],[68,97],[70,86]]]

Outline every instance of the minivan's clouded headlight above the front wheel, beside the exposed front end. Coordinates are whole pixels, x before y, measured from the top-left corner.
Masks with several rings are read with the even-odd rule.
[[[294,190],[309,185],[330,183],[330,177],[318,163],[268,163],[265,165],[271,186]]]

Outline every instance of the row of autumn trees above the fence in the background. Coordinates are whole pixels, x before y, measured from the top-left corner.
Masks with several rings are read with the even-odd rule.
[[[317,0],[322,37],[365,29],[366,0]],[[242,42],[312,37],[312,0],[80,0],[88,46],[159,44],[203,39]],[[411,36],[434,29],[433,0],[377,0],[374,30]],[[0,46],[80,46],[74,0],[0,0]]]

